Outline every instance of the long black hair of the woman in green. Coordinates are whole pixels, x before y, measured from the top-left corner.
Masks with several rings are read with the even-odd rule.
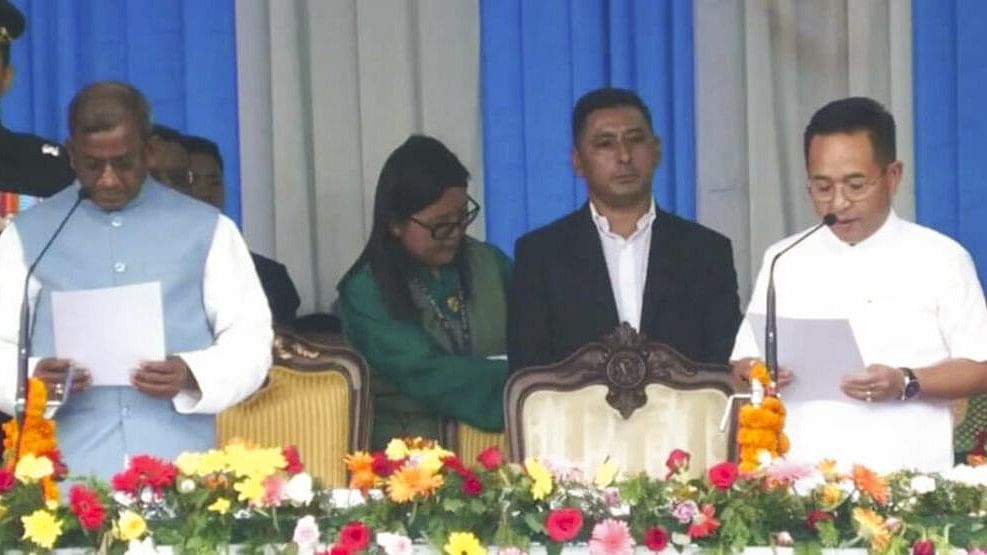
[[[394,224],[439,200],[447,189],[466,187],[469,171],[444,144],[432,137],[412,135],[384,162],[374,195],[374,219],[370,239],[359,258],[347,270],[339,287],[364,266],[377,282],[391,316],[414,320],[420,309],[411,298],[408,283],[415,261],[391,232]],[[463,245],[453,259],[460,284],[468,298],[470,275]]]

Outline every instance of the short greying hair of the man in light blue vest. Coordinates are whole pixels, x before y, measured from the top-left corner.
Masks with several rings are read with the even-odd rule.
[[[69,134],[110,131],[130,118],[140,138],[151,136],[151,107],[136,87],[120,81],[98,81],[83,87],[69,104]]]

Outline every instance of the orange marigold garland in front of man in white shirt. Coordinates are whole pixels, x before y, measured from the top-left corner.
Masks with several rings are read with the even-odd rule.
[[[741,472],[753,472],[760,466],[762,453],[778,458],[788,452],[788,436],[785,435],[785,405],[775,394],[774,382],[763,362],[751,368],[755,394],[751,404],[740,409],[737,428],[737,446],[740,451]]]

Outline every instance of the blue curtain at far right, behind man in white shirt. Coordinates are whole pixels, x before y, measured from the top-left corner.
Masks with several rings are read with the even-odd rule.
[[[960,241],[987,278],[987,2],[914,0],[918,221]]]

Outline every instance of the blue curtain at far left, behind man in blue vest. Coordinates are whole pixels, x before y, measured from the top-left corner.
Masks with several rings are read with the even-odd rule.
[[[7,127],[64,140],[76,91],[92,81],[128,81],[147,96],[156,122],[219,144],[227,214],[239,222],[233,0],[14,4],[27,18],[27,32],[13,45],[17,75],[0,105]]]

